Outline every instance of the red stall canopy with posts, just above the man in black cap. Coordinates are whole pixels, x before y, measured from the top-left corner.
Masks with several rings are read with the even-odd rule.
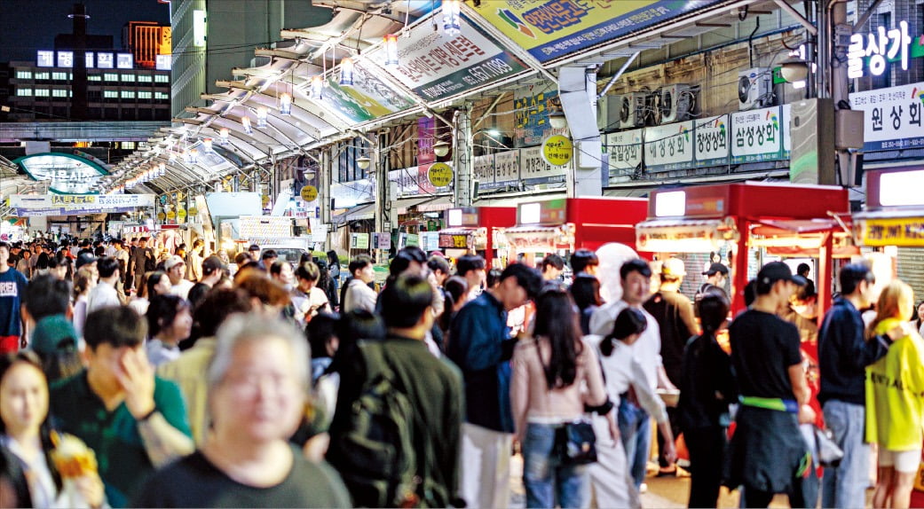
[[[755,182],[667,188],[651,193],[648,219],[638,224],[636,236],[639,250],[663,253],[710,252],[731,242],[736,248],[733,311],[744,308],[748,256],[743,254],[748,248],[818,256],[823,314],[831,302],[831,285],[821,282],[832,278],[835,237],[841,238],[843,249],[850,249],[842,218],[849,213],[845,188]]]

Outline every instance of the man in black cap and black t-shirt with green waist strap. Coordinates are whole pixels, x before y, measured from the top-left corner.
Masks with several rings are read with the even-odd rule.
[[[779,315],[796,291],[793,273],[782,261],[767,263],[755,289],[754,303],[728,329],[741,407],[726,484],[745,487],[746,507],[767,507],[775,493],[793,507],[814,506],[815,470],[799,424],[814,422],[815,412],[798,329]],[[803,490],[810,484],[816,488]]]

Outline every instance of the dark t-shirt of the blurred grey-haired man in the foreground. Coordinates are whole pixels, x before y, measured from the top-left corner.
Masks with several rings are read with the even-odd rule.
[[[200,451],[158,470],[131,507],[350,507],[343,481],[333,468],[295,457],[286,479],[254,488],[231,479]]]

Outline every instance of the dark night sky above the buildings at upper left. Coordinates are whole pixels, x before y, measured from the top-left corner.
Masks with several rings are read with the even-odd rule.
[[[55,35],[71,33],[67,15],[82,3],[90,15],[87,34],[111,35],[120,48],[128,21],[170,24],[170,5],[157,0],[0,0],[0,62],[34,61],[40,49],[54,49]]]

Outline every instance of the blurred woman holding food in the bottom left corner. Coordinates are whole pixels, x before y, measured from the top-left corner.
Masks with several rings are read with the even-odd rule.
[[[56,436],[56,435],[55,435]],[[75,442],[76,441],[76,442]],[[82,445],[69,435],[63,442]],[[16,455],[26,473],[32,507],[100,507],[103,481],[95,468],[87,466],[91,452],[81,452],[84,461],[67,461],[59,448],[59,461],[74,471],[61,472],[53,460],[55,442],[48,422],[48,382],[38,356],[30,351],[0,357],[0,443]],[[58,444],[60,446],[60,444]],[[73,480],[65,490],[62,474]]]

